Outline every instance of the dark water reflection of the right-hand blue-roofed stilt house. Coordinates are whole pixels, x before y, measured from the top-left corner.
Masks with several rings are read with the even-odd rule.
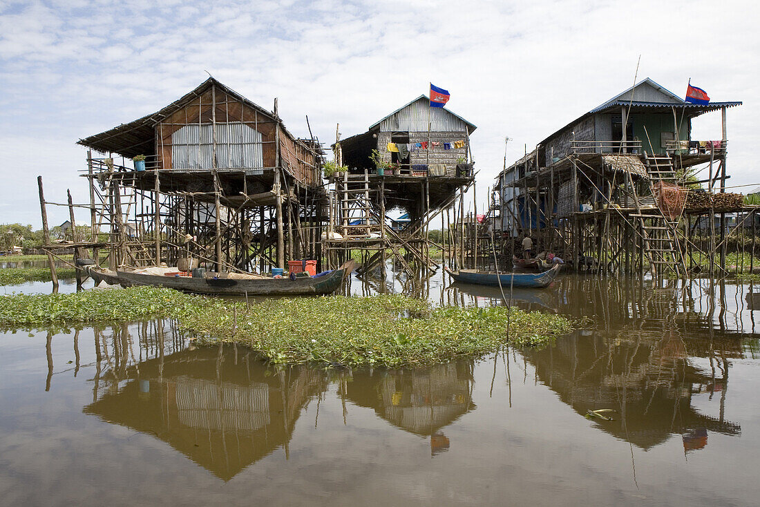
[[[541,381],[578,414],[617,410],[614,420],[598,420],[604,431],[644,449],[685,434],[685,448],[688,441],[693,450],[700,442],[706,444],[708,431],[741,431],[724,417],[727,357],[740,353],[741,345],[734,339],[714,339],[712,345],[714,371],[707,372],[689,361],[687,350],[689,356],[710,357],[710,343],[690,338],[687,346],[678,331],[573,334],[556,347],[524,353]],[[722,392],[716,387],[721,385]],[[712,398],[716,391],[719,414],[701,414],[693,407],[695,396]]]

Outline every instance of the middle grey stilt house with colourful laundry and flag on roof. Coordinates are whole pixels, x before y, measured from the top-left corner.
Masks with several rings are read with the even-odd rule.
[[[372,266],[386,248],[403,246],[416,261],[436,265],[427,255],[428,224],[473,183],[475,128],[447,108],[430,107],[420,95],[367,132],[337,140],[336,163],[347,171],[332,179],[328,249],[378,250],[367,262]],[[401,230],[389,227],[391,209],[409,218]],[[372,218],[382,227],[369,227]],[[363,224],[351,225],[357,219]]]

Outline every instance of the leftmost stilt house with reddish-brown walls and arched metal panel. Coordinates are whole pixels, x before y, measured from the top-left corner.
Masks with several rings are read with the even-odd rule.
[[[172,261],[185,235],[198,238],[201,260],[236,268],[250,268],[254,256],[282,266],[285,257],[315,255],[318,239],[307,238],[301,222],[319,221],[321,148],[285,128],[276,99],[268,111],[209,78],[169,106],[79,144],[107,154],[89,158],[88,176],[112,205],[125,212],[130,206],[114,201],[136,200],[131,216],[106,220],[116,235],[135,220],[141,237],[150,236],[140,245],[122,237],[119,264]]]

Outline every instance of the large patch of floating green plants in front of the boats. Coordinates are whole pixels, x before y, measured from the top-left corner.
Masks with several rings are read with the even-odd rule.
[[[559,315],[489,309],[433,308],[398,295],[230,299],[135,287],[63,295],[0,298],[0,323],[41,325],[176,318],[198,344],[245,345],[273,363],[423,366],[482,356],[504,344],[549,344],[572,325]],[[509,326],[509,334],[507,328]]]

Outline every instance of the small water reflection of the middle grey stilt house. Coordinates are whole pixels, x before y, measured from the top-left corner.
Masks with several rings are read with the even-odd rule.
[[[448,448],[441,429],[474,410],[473,363],[432,366],[424,370],[353,372],[347,398],[371,407],[388,422],[420,436],[430,436],[433,455]]]

